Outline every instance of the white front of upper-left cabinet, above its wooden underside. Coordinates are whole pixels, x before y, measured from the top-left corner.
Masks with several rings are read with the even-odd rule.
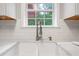
[[[0,15],[16,17],[15,3],[0,3]]]

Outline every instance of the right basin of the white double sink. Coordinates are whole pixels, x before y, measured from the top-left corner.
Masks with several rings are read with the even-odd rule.
[[[54,43],[39,44],[39,56],[54,56],[57,53],[57,47]]]

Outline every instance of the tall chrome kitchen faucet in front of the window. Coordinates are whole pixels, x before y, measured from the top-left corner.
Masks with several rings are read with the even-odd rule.
[[[36,23],[36,41],[39,41],[42,40],[42,22],[37,20]]]

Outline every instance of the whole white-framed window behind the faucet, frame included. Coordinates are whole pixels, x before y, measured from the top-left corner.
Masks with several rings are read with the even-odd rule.
[[[41,21],[43,27],[57,26],[57,7],[54,3],[26,3],[24,27],[35,27]]]

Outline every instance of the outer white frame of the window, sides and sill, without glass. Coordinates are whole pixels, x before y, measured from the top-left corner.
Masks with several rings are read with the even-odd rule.
[[[26,9],[26,3],[21,4],[21,26],[22,27],[36,27],[36,26],[29,26],[28,25],[28,17],[27,17],[27,9]],[[42,27],[58,27],[58,20],[59,20],[59,4],[55,3],[54,6],[54,12],[55,12],[55,19],[53,20],[53,25],[44,25]]]

